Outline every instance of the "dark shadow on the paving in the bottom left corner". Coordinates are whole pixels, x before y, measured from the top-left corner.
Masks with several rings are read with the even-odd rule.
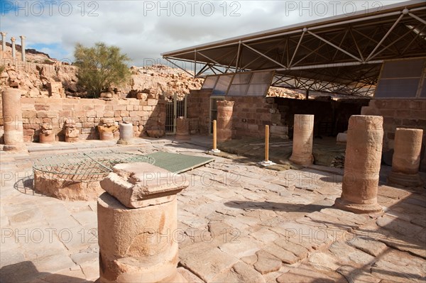
[[[6,265],[0,269],[1,283],[24,283],[24,282],[69,282],[69,283],[92,283],[86,279],[67,276],[64,274],[52,274],[40,272],[33,262],[24,261],[14,265]]]

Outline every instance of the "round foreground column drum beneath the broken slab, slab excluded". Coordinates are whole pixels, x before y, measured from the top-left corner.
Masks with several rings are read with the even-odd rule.
[[[176,200],[129,209],[113,196],[97,206],[100,282],[174,282],[180,275]]]

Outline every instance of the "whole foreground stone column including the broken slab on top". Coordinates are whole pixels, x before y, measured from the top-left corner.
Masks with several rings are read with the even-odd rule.
[[[185,282],[177,271],[182,175],[128,163],[100,184],[107,192],[97,204],[99,282]]]

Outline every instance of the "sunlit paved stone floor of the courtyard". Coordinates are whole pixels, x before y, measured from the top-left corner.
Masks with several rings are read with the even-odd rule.
[[[208,144],[86,141],[0,152],[0,282],[99,277],[96,202],[36,194],[31,160],[103,148],[204,155]],[[217,157],[184,173],[190,187],[178,195],[178,231],[157,236],[180,243],[188,282],[426,282],[426,190],[384,185],[389,170],[378,190],[385,212],[356,215],[332,207],[342,170],[274,171]]]

